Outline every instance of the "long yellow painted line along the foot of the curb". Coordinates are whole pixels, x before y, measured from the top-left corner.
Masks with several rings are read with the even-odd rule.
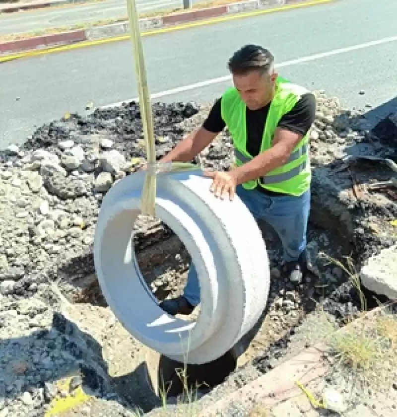
[[[174,31],[182,30],[182,29],[190,29],[190,28],[214,24],[214,23],[227,22],[229,20],[242,19],[244,17],[260,16],[263,14],[275,13],[278,11],[291,10],[295,8],[315,6],[319,4],[331,3],[334,1],[336,0],[312,0],[312,1],[302,2],[302,3],[288,4],[288,5],[284,5],[280,7],[273,7],[273,8],[265,9],[265,10],[252,10],[252,11],[247,11],[243,13],[236,13],[236,14],[214,17],[210,19],[199,20],[199,21],[194,21],[194,22],[189,22],[189,23],[177,24],[175,26],[169,26],[169,27],[164,27],[164,28],[155,29],[155,30],[148,30],[146,32],[142,32],[141,36],[151,36],[151,35],[157,35],[157,34],[162,34],[162,33],[167,33],[167,32],[174,32]],[[14,54],[14,55],[7,55],[5,57],[0,57],[0,63],[16,60],[19,58],[35,57],[38,55],[52,54],[54,52],[63,52],[63,51],[69,51],[73,49],[85,48],[88,46],[103,45],[103,44],[117,42],[117,41],[125,41],[127,39],[130,39],[130,34],[115,36],[113,38],[82,41],[82,42],[78,42],[75,44],[56,46],[56,47],[51,47],[51,48],[47,48],[47,49],[43,49],[39,51],[26,51],[26,52],[21,52],[21,53]]]

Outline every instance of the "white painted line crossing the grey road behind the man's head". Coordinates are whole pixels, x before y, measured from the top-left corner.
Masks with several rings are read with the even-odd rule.
[[[340,54],[346,54],[347,52],[357,51],[359,49],[364,49],[364,48],[371,48],[373,46],[386,44],[386,43],[390,43],[390,42],[396,42],[396,41],[397,41],[397,36],[391,36],[389,38],[378,39],[376,41],[365,42],[365,43],[362,43],[362,44],[352,45],[352,46],[348,46],[348,47],[345,47],[345,48],[334,49],[334,50],[328,51],[328,52],[322,52],[320,54],[308,55],[307,57],[301,57],[301,58],[297,58],[295,60],[285,61],[285,62],[282,62],[280,64],[277,64],[275,67],[276,68],[290,67],[290,66],[296,65],[296,64],[302,64],[302,63],[309,62],[309,61],[320,60],[320,59],[323,59],[323,58],[333,57],[335,55],[340,55]],[[151,94],[150,97],[152,99],[153,98],[166,97],[166,96],[173,95],[173,94],[183,93],[183,92],[189,91],[189,90],[194,90],[196,88],[206,87],[206,86],[212,85],[212,84],[220,84],[221,82],[226,82],[226,81],[230,81],[230,80],[231,80],[231,75],[224,75],[222,77],[211,78],[211,79],[207,79],[205,81],[196,82],[194,84],[182,85],[181,87],[176,87],[176,88],[171,88],[169,90],[160,91],[158,93]],[[136,101],[138,99],[135,97],[132,100]],[[105,109],[105,108],[109,108],[109,107],[116,107],[116,106],[120,106],[121,104],[129,102],[129,101],[131,101],[131,99],[120,101],[118,103],[108,104],[106,106],[100,106],[100,108]]]

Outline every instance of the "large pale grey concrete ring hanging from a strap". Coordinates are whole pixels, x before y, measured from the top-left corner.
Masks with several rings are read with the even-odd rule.
[[[269,263],[258,225],[236,197],[221,201],[201,171],[157,177],[156,216],[181,239],[199,276],[197,322],[169,316],[145,283],[133,248],[145,172],[109,190],[98,215],[94,262],[99,284],[125,328],[144,345],[179,362],[217,359],[261,315],[269,291]]]

